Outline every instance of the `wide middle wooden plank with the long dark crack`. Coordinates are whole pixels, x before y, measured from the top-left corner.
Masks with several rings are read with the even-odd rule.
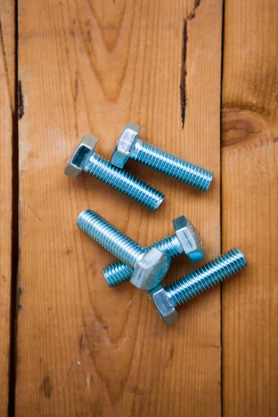
[[[145,245],[184,213],[207,259],[219,254],[221,6],[19,0],[17,416],[220,416],[219,288],[167,328],[147,295],[129,283],[106,287],[102,268],[113,258],[75,222],[92,208]],[[215,172],[211,190],[131,162],[167,195],[149,213],[85,174],[65,177],[81,136],[93,133],[109,157],[129,120],[142,138]],[[184,263],[167,281],[190,269]]]

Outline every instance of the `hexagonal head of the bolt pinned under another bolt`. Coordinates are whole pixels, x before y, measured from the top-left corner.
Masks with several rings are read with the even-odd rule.
[[[174,231],[184,253],[191,262],[197,262],[204,258],[204,247],[202,240],[193,224],[184,215],[173,220]]]

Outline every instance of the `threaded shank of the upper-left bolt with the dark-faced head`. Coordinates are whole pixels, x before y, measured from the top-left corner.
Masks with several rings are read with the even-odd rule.
[[[126,170],[120,170],[113,166],[109,161],[95,153],[90,156],[83,167],[83,171],[152,211],[156,211],[165,197],[160,191],[152,188]]]

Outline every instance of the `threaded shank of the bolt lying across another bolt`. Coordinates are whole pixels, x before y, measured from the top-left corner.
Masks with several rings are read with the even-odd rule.
[[[118,259],[134,268],[145,249],[92,210],[79,214],[76,224],[85,234]]]

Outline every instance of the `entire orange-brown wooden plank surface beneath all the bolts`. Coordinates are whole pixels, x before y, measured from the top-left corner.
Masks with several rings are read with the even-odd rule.
[[[0,416],[278,416],[276,0],[0,0]],[[157,213],[65,161],[122,126],[215,174],[201,193],[130,161]],[[85,208],[142,245],[184,214],[206,261],[249,267],[166,327],[107,288]],[[172,263],[166,282],[193,265]]]

